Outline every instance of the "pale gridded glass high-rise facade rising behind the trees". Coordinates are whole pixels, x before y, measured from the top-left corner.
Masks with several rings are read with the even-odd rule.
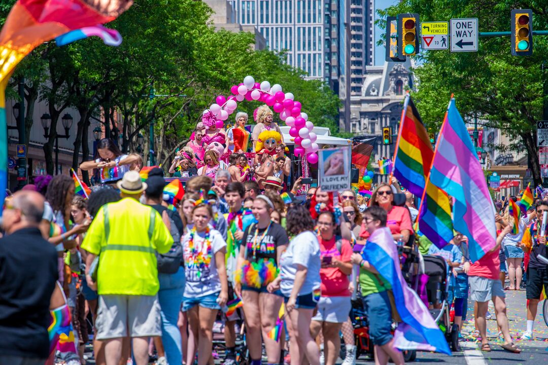
[[[306,78],[323,78],[323,0],[229,0],[233,21],[254,25],[266,47],[287,53],[287,63]]]

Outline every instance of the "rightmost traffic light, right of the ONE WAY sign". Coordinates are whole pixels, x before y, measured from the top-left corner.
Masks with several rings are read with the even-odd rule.
[[[512,56],[530,56],[533,54],[533,11],[512,9],[511,14],[510,51]]]

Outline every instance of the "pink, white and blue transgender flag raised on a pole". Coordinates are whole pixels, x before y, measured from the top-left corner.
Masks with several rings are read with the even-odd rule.
[[[495,207],[463,118],[452,98],[439,132],[430,182],[453,196],[453,225],[468,237],[476,262],[495,247]]]

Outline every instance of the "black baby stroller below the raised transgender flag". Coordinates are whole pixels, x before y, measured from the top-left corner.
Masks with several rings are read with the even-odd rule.
[[[430,314],[436,321],[439,329],[446,336],[451,350],[457,351],[459,347],[459,328],[457,325],[449,326],[451,303],[447,302],[448,287],[447,262],[441,256],[426,255],[424,258],[424,273],[429,279],[426,283],[428,301],[435,309],[430,309]]]

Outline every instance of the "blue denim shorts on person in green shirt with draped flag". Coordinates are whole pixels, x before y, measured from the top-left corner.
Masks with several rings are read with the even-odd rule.
[[[363,297],[363,306],[369,321],[369,337],[373,345],[383,346],[392,340],[392,306],[388,292]]]

